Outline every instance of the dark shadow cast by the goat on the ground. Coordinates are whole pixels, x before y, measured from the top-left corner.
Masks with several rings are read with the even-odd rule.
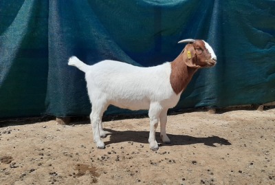
[[[115,131],[111,129],[104,129],[105,131],[109,132],[107,135],[111,135],[110,140],[104,142],[107,144],[118,143],[118,142],[139,142],[139,143],[148,143],[149,132],[148,131]],[[160,141],[159,132],[155,133],[156,140]],[[221,145],[231,145],[228,140],[224,138],[220,138],[219,136],[208,136],[206,138],[197,138],[189,135],[175,135],[175,134],[167,134],[168,138],[170,138],[170,144],[159,144],[159,146],[174,146],[174,145],[190,145],[190,144],[199,144],[203,143],[206,146],[213,146],[216,147],[214,144],[221,144]]]

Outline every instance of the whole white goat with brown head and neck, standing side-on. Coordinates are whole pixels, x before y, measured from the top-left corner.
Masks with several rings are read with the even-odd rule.
[[[101,138],[106,137],[102,129],[102,115],[109,105],[122,109],[148,110],[150,148],[158,149],[155,131],[160,122],[162,142],[170,143],[166,135],[167,111],[175,107],[182,91],[197,69],[212,67],[217,56],[212,47],[203,40],[185,39],[188,43],[173,62],[154,67],[137,67],[119,61],[105,60],[86,65],[76,56],[69,58],[72,65],[85,72],[87,90],[92,105],[90,114],[94,142],[104,149]]]

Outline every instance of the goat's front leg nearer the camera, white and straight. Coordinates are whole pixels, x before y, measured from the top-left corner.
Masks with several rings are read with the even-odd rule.
[[[148,142],[150,144],[150,149],[156,151],[159,149],[157,141],[155,140],[155,131],[157,129],[157,124],[159,122],[159,113],[162,111],[161,105],[154,103],[150,105],[148,116],[150,118],[150,134]]]

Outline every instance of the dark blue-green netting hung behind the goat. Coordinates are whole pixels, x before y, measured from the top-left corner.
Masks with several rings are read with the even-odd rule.
[[[69,56],[147,67],[173,61],[187,38],[208,41],[218,64],[195,74],[175,109],[272,102],[274,36],[275,1],[1,0],[0,118],[88,115]]]

